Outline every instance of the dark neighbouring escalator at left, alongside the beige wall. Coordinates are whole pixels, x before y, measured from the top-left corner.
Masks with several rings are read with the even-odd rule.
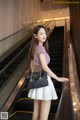
[[[9,81],[15,70],[28,54],[30,40],[31,37],[0,63],[0,89]]]

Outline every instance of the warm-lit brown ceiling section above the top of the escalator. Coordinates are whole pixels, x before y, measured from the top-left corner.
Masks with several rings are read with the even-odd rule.
[[[60,0],[41,0],[41,11],[43,19],[63,20],[69,17],[68,4],[60,4]],[[62,1],[62,0],[61,0]],[[66,0],[63,0],[65,2]],[[65,2],[66,3],[66,2]],[[57,22],[58,22],[57,21]]]

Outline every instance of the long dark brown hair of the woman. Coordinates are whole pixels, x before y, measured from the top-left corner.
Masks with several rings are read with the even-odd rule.
[[[43,25],[38,25],[34,28],[33,30],[33,35],[32,35],[32,41],[31,41],[31,46],[30,46],[30,50],[29,50],[29,53],[30,53],[30,58],[31,60],[34,59],[34,51],[35,51],[35,46],[38,45],[38,40],[35,38],[34,34],[38,34],[39,30],[41,28],[44,28],[45,31],[46,31],[46,34],[47,34],[47,39],[46,41],[43,43],[43,46],[45,47],[46,49],[46,52],[49,53],[49,46],[48,46],[48,31],[47,29],[43,26]]]

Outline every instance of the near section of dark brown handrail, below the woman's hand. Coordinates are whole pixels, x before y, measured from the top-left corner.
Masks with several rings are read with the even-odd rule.
[[[75,120],[70,91],[70,83],[64,83],[55,120]]]

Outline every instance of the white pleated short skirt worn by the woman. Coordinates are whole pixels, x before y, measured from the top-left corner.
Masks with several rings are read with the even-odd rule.
[[[29,90],[28,97],[36,100],[56,100],[58,99],[51,77],[47,75],[48,86]]]

